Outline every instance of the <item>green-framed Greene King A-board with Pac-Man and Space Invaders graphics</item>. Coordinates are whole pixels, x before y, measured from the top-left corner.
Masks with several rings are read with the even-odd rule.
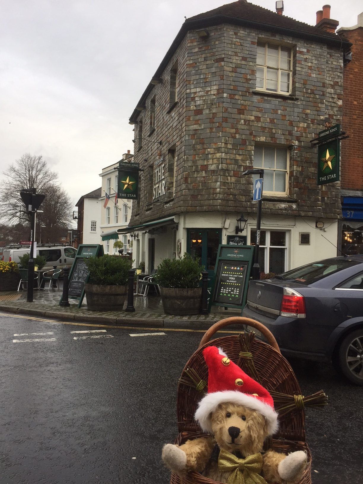
[[[246,304],[253,245],[220,245],[212,281],[211,305],[243,308]]]

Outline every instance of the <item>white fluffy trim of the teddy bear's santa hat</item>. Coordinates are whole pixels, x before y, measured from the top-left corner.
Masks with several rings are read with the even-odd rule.
[[[261,402],[258,398],[252,395],[242,393],[238,390],[226,390],[224,392],[208,393],[202,398],[198,404],[198,408],[195,414],[195,419],[201,426],[204,432],[213,433],[211,425],[211,413],[218,407],[220,403],[236,403],[244,405],[251,410],[257,410],[261,413],[267,423],[269,435],[273,435],[277,431],[277,413],[270,407],[270,405]]]

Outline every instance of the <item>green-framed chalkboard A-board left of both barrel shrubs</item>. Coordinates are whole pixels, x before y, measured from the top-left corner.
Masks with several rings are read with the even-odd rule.
[[[78,307],[82,305],[85,295],[85,284],[90,276],[84,259],[92,256],[101,257],[103,255],[104,248],[101,244],[81,244],[78,246],[68,278],[68,296],[71,299],[79,300]]]

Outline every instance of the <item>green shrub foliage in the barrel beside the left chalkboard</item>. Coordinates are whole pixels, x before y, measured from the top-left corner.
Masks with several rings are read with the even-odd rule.
[[[85,258],[84,261],[90,271],[89,284],[126,286],[129,269],[132,269],[131,259],[105,254],[102,257]]]

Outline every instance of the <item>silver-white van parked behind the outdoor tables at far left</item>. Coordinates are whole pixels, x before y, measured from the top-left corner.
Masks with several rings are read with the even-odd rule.
[[[30,247],[22,248],[4,248],[3,260],[19,263],[19,257],[24,254],[30,254]],[[37,246],[37,256],[45,257],[46,264],[42,270],[46,271],[53,269],[53,266],[57,266],[58,269],[62,269],[65,266],[71,267],[76,256],[76,249],[70,245],[44,245]]]

